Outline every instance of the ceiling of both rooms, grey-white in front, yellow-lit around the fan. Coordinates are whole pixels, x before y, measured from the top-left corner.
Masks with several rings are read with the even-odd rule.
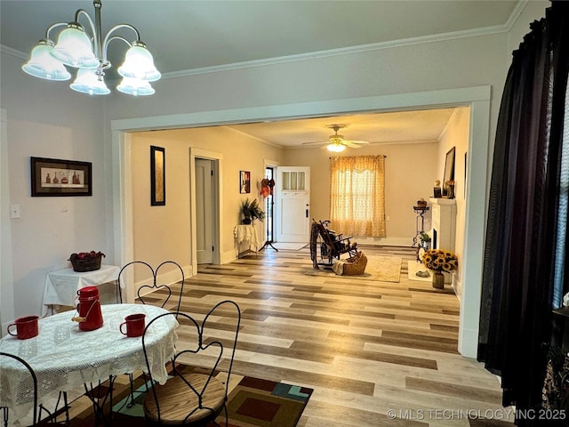
[[[102,29],[129,23],[164,78],[216,69],[299,60],[381,46],[509,29],[527,0],[185,1],[102,0]],[[22,63],[54,22],[76,9],[94,19],[91,0],[0,0],[0,48]],[[80,23],[88,26],[84,17]],[[125,30],[117,35],[133,38]],[[57,30],[52,33],[55,38]],[[125,46],[124,46],[125,47]],[[109,45],[114,69],[123,44]],[[232,126],[269,143],[293,147],[326,141],[326,125],[345,124],[349,140],[437,141],[452,110],[366,114]]]

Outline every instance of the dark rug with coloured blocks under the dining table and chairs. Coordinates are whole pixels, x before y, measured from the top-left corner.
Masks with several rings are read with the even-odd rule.
[[[184,367],[183,370],[190,372],[194,368]],[[235,385],[229,392],[226,427],[294,427],[299,422],[313,391],[307,387],[240,375],[231,375],[231,383]],[[114,383],[113,401],[117,402],[113,405],[114,426],[146,425],[142,402],[147,393],[147,383],[142,376],[135,379],[134,387],[134,405],[129,407],[131,397],[128,381]],[[104,386],[100,389],[103,392],[108,391]],[[86,396],[76,399],[69,407],[71,419],[68,425],[71,427],[94,425],[92,404]],[[225,415],[222,414],[216,421],[225,426]],[[100,425],[103,423],[104,420],[101,420]],[[213,425],[211,423],[211,427]]]

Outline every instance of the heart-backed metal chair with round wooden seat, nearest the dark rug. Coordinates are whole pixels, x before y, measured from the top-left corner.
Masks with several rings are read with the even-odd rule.
[[[223,301],[215,305],[201,322],[182,312],[167,313],[155,318],[148,323],[142,335],[142,348],[150,373],[154,361],[147,357],[146,340],[152,336],[156,321],[174,316],[180,322],[179,334],[184,335],[184,342],[179,342],[176,346],[176,354],[172,359],[172,378],[163,386],[155,384],[144,399],[147,423],[220,425],[215,419],[224,411],[224,425],[228,425],[228,386],[241,324],[241,310],[236,302]],[[223,325],[222,333],[220,325]],[[199,368],[189,373],[181,372],[178,359],[183,360],[184,365]],[[221,375],[220,369],[223,371]],[[150,379],[154,383],[152,374]]]

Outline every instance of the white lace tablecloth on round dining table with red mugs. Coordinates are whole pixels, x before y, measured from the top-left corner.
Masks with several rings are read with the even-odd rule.
[[[129,314],[145,313],[148,325],[167,310],[152,305],[109,304],[101,306],[101,311],[103,326],[94,331],[80,330],[71,320],[76,311],[65,311],[41,318],[39,334],[34,338],[19,340],[6,335],[0,340],[0,351],[20,356],[36,372],[38,403],[84,383],[108,380],[110,375],[147,370],[142,338],[127,337],[118,328]],[[165,364],[174,352],[177,326],[175,318],[166,316],[153,324],[145,338],[152,377],[161,384],[166,382]],[[32,409],[32,390],[25,367],[12,359],[0,359],[0,407],[12,409],[11,421],[12,416],[20,419]]]

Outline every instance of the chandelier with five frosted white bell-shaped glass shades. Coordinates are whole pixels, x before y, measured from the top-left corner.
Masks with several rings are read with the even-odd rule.
[[[116,90],[134,96],[151,95],[156,91],[150,85],[161,75],[154,66],[152,55],[146,44],[140,41],[138,30],[129,24],[117,24],[108,30],[103,37],[100,26],[100,0],[94,0],[95,21],[83,9],[75,12],[72,22],[56,22],[45,30],[45,37],[32,49],[30,58],[22,69],[31,76],[46,80],[65,81],[71,78],[67,67],[77,68],[76,79],[69,85],[71,89],[90,95],[106,95],[110,93],[105,84],[105,70],[111,67],[107,59],[108,44],[115,40],[123,41],[129,46],[124,55],[123,64],[117,69],[123,80]],[[89,23],[91,35],[79,24],[79,17],[84,16]],[[50,38],[54,28],[65,26],[60,31],[57,44]],[[123,36],[113,36],[121,28],[131,29],[136,40],[129,42]]]

